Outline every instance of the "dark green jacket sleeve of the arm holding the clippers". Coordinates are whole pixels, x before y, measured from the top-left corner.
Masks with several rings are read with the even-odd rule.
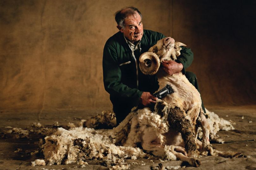
[[[103,82],[105,90],[114,97],[130,98],[139,101],[142,92],[136,88],[129,88],[121,83],[121,70],[118,64],[116,49],[105,45],[103,50]]]

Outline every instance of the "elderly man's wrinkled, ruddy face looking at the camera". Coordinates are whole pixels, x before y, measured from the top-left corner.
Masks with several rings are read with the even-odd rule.
[[[143,36],[143,25],[140,15],[136,12],[130,15],[125,20],[125,28],[120,31],[124,33],[125,38],[129,39],[132,43],[141,40]]]

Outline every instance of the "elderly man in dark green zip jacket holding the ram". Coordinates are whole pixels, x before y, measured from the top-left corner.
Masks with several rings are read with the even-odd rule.
[[[141,73],[138,58],[165,36],[143,30],[142,15],[134,7],[117,11],[115,20],[119,32],[107,40],[102,65],[104,87],[110,94],[118,125],[134,106],[139,103],[149,106],[156,102],[157,98],[152,93],[159,88],[157,78]],[[163,61],[162,67],[170,75],[182,71],[198,89],[196,76],[185,71],[192,63],[193,53],[189,48],[181,48],[179,58],[176,61]]]

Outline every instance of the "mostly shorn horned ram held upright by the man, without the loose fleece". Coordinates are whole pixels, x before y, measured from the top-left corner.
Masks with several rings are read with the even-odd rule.
[[[213,150],[210,146],[210,127],[201,107],[201,98],[197,89],[187,80],[182,72],[168,75],[163,69],[159,69],[163,60],[176,60],[180,55],[180,46],[186,46],[183,43],[175,42],[173,38],[166,37],[159,40],[149,51],[143,53],[140,58],[140,70],[147,75],[156,74],[159,82],[159,89],[169,84],[174,93],[168,94],[163,100],[158,100],[155,105],[155,111],[167,121],[172,128],[169,129],[171,139],[167,142],[170,145],[185,146],[187,156],[198,157],[198,144],[201,151],[209,151],[211,155],[225,157],[241,156],[241,153],[220,152]],[[201,126],[203,130],[202,142],[197,140],[197,127]],[[176,137],[176,139],[174,138]],[[181,140],[181,138],[183,140]],[[184,142],[184,143],[183,143]],[[144,148],[143,148],[144,149]],[[157,155],[158,153],[156,153]],[[178,157],[179,154],[176,154]],[[179,159],[188,159],[179,155]],[[200,165],[195,160],[196,166]]]

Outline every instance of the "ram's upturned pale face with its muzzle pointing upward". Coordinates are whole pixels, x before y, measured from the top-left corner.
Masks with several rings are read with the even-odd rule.
[[[149,51],[157,54],[160,61],[173,60],[171,55],[174,52],[174,42],[174,39],[171,37],[163,38],[157,41],[153,47],[149,48]]]

